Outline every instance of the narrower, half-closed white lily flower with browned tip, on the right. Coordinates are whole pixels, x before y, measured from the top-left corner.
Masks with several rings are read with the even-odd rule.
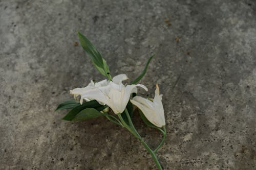
[[[145,117],[152,124],[159,128],[165,126],[162,94],[159,94],[158,85],[156,85],[155,98],[153,102],[148,99],[142,98],[141,96],[135,96],[133,100],[130,101],[142,111]]]

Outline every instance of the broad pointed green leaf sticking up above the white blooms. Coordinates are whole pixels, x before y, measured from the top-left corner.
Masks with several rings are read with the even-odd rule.
[[[98,69],[98,71],[103,75],[107,76],[110,74],[109,66],[106,64],[106,61],[101,57],[98,50],[94,47],[94,45],[91,43],[91,41],[81,34],[78,33],[79,41],[81,43],[81,46],[84,51],[89,55],[91,58],[91,61],[93,62],[93,65]]]

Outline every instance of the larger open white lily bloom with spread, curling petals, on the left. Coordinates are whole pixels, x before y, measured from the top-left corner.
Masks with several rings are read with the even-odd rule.
[[[83,99],[96,100],[100,104],[108,105],[115,114],[118,114],[124,111],[134,88],[142,87],[147,91],[147,88],[142,84],[124,86],[122,81],[127,79],[126,75],[121,74],[115,76],[113,81],[103,80],[94,85],[90,83],[87,87],[70,90],[70,93],[81,95],[80,104],[82,104]]]

